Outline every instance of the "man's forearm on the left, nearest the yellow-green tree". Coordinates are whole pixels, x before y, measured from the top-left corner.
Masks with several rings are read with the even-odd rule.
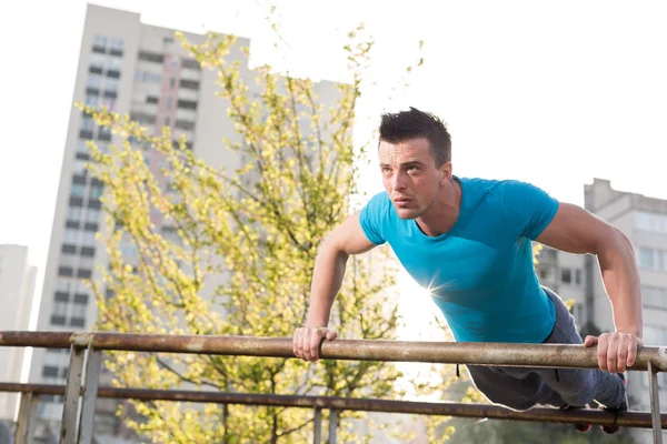
[[[327,326],[334,300],[342,285],[349,254],[325,244],[315,261],[306,326]]]

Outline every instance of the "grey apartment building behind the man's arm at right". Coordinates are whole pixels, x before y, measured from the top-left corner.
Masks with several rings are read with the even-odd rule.
[[[667,344],[667,200],[614,190],[607,180],[585,185],[585,208],[625,233],[635,248],[644,304],[644,343]],[[544,285],[574,302],[580,334],[614,331],[611,303],[597,259],[546,248],[538,273]],[[667,402],[667,375],[658,375],[660,405]],[[630,408],[649,411],[648,375],[628,372]],[[653,442],[650,430],[635,430],[638,443]],[[666,436],[667,437],[667,436]]]

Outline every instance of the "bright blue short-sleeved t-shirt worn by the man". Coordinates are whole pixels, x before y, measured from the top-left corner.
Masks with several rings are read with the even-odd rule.
[[[519,181],[455,178],[459,216],[445,234],[427,236],[402,220],[386,192],[360,212],[369,241],[389,242],[460,342],[539,343],[554,329],[554,304],[532,264],[535,240],[551,222],[558,201]]]

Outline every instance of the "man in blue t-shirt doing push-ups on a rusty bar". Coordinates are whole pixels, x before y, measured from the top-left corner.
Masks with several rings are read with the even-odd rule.
[[[531,241],[570,253],[596,254],[614,307],[616,331],[587,336],[598,369],[468,366],[494,403],[586,408],[596,400],[627,410],[623,372],[641,343],[639,278],[633,245],[616,228],[581,208],[559,203],[528,183],[452,175],[451,141],[435,115],[411,108],[385,114],[378,154],[386,192],[334,230],[320,248],[306,325],[295,354],[319,359],[347,259],[389,242],[410,275],[427,287],[456,341],[580,344],[558,295],[538,283]],[[577,425],[581,432],[590,425]],[[603,427],[607,433],[617,426]]]

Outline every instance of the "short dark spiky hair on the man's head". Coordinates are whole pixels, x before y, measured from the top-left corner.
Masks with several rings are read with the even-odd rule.
[[[428,140],[436,167],[451,160],[451,137],[437,115],[412,107],[409,111],[382,114],[380,142],[400,143],[419,138]]]

